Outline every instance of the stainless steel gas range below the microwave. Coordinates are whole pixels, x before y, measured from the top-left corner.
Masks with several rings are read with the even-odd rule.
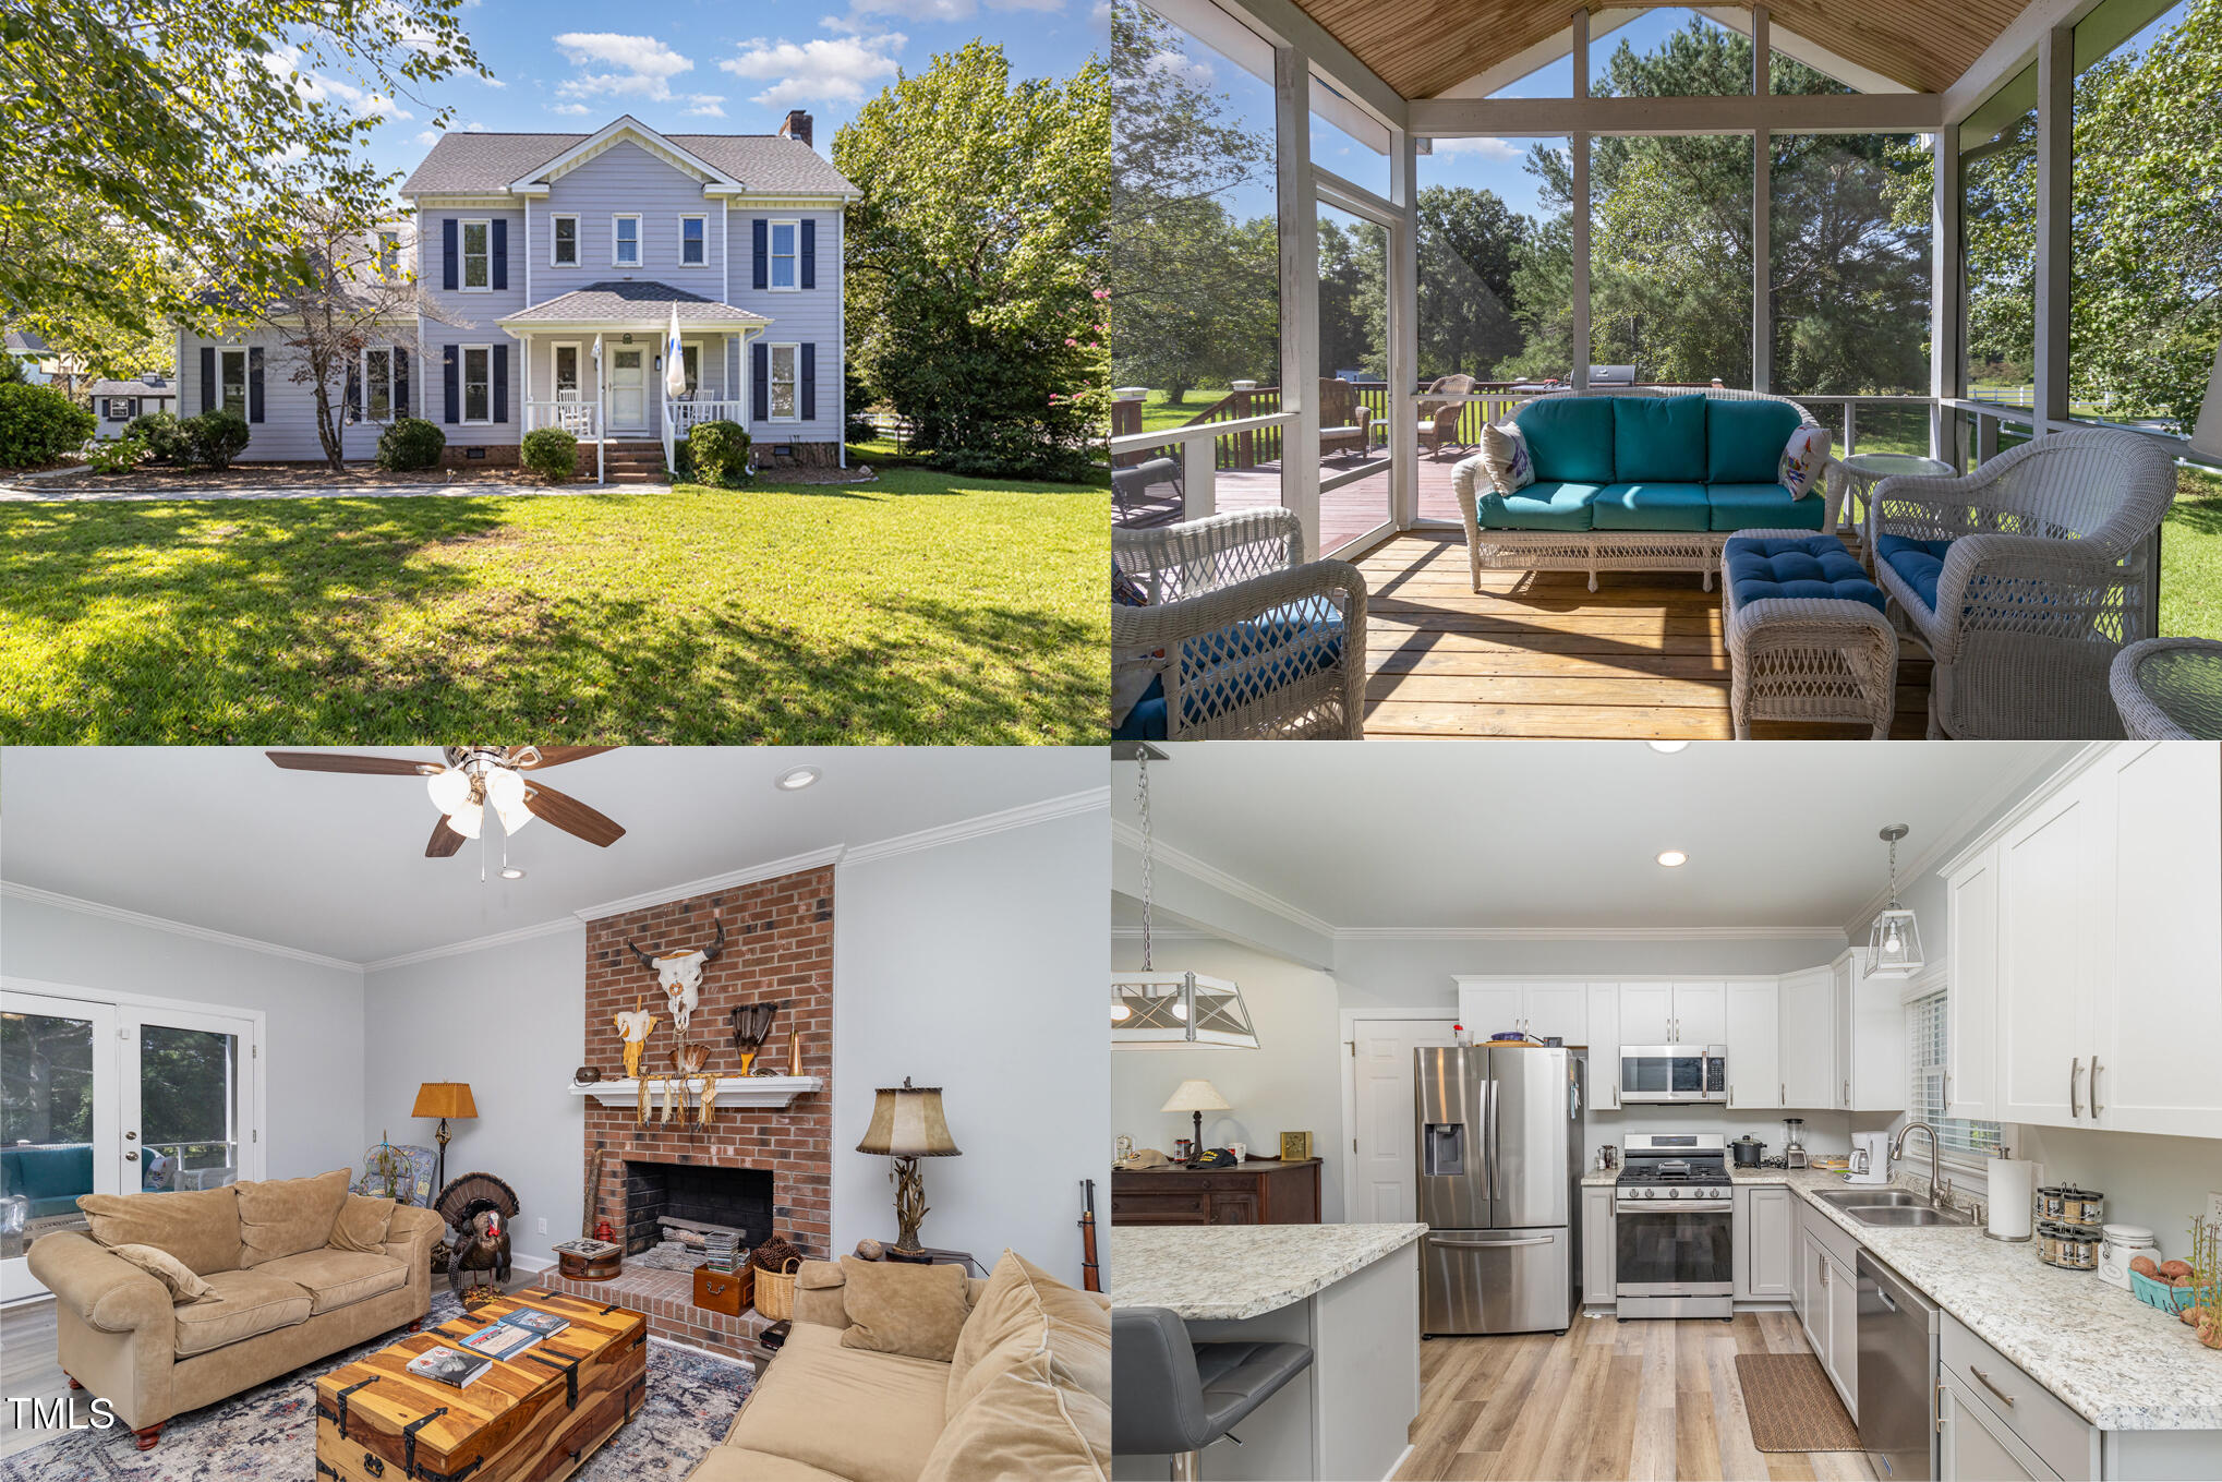
[[[1613,1182],[1613,1295],[1629,1318],[1733,1318],[1735,1244],[1720,1133],[1629,1133]]]

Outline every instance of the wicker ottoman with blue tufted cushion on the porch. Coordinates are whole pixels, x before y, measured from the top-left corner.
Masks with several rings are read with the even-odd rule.
[[[1898,633],[1882,589],[1835,535],[1738,531],[1720,553],[1729,640],[1729,718],[1846,720],[1891,733]]]

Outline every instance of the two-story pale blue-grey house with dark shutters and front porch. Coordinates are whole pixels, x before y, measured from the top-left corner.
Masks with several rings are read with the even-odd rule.
[[[398,415],[438,422],[447,462],[516,462],[536,427],[615,449],[698,420],[742,422],[800,462],[842,460],[842,213],[860,191],[780,133],[447,133],[402,184],[416,216],[380,231],[420,313],[364,349],[347,458]],[[664,395],[680,318],[687,395]],[[180,413],[233,407],[244,460],[320,460],[316,391],[269,327],[178,338]],[[342,389],[333,387],[340,398]]]

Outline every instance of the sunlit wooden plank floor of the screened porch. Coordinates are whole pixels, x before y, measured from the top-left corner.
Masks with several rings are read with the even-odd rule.
[[[1367,735],[1726,740],[1720,591],[1673,571],[1484,571],[1460,535],[1404,533],[1367,575]],[[1893,740],[1929,727],[1929,660],[1898,664]],[[1753,738],[1864,740],[1849,724],[1753,724]]]

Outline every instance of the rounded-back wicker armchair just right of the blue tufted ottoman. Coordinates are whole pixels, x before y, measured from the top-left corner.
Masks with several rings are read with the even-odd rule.
[[[2122,733],[2106,671],[2144,638],[2144,553],[2175,500],[2151,438],[2051,433],[1964,478],[1886,478],[1869,502],[1875,582],[1935,660],[1929,735]],[[1935,604],[1880,553],[1949,540]]]

